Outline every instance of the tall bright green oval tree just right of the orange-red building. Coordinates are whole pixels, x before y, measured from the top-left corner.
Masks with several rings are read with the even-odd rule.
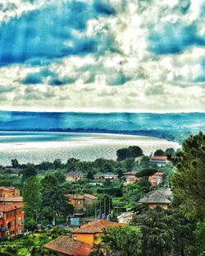
[[[23,200],[26,217],[34,217],[42,205],[41,184],[36,176],[26,179],[23,189]]]

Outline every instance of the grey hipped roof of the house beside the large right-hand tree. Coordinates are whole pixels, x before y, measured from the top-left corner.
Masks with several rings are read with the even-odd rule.
[[[144,198],[139,200],[139,203],[171,203],[172,193],[171,189],[156,189],[147,194]]]

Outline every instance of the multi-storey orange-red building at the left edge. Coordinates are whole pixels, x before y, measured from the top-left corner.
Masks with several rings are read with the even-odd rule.
[[[20,190],[0,188],[0,237],[15,236],[24,229],[23,198]]]

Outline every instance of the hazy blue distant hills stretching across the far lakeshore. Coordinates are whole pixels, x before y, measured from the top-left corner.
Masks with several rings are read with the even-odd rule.
[[[205,132],[205,113],[48,113],[0,111],[2,131],[125,133],[183,142]]]

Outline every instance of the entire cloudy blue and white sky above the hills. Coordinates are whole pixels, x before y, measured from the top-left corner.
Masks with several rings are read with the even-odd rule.
[[[204,112],[205,0],[2,0],[0,109]]]

